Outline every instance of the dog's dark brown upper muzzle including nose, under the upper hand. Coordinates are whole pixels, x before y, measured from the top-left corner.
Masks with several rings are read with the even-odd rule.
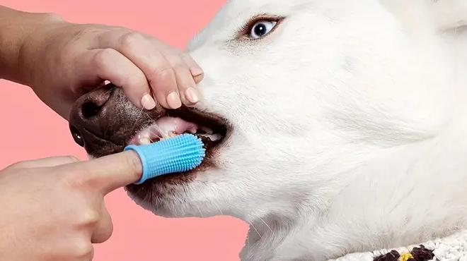
[[[69,128],[74,141],[93,157],[121,152],[129,138],[165,111],[135,107],[113,84],[80,97],[71,109]]]

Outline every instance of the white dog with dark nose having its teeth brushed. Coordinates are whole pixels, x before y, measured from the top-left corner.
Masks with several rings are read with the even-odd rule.
[[[165,217],[248,222],[243,261],[446,236],[467,226],[464,25],[466,0],[229,1],[188,47],[206,73],[194,109],[140,115],[120,90],[96,90],[72,131],[96,157],[203,137],[200,168],[127,189]],[[96,95],[112,109],[83,117]]]

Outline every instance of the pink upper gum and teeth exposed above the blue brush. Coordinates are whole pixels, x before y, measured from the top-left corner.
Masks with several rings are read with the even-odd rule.
[[[156,120],[151,126],[141,130],[137,135],[134,135],[128,144],[139,145],[144,142],[155,141],[160,138],[168,138],[173,134],[180,134],[185,132],[195,133],[197,125],[180,118],[173,118],[169,116],[161,117]]]

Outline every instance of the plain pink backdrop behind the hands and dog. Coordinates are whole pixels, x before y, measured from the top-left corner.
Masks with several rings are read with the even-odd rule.
[[[183,48],[226,0],[2,0],[23,11],[54,12],[76,23],[123,25]],[[20,102],[21,99],[21,102]],[[27,106],[18,104],[28,104]],[[67,122],[28,87],[0,80],[0,169],[26,159],[75,155],[86,159]],[[238,260],[247,226],[229,217],[163,219],[142,210],[123,189],[108,195],[114,222],[109,241],[96,245],[96,261]]]

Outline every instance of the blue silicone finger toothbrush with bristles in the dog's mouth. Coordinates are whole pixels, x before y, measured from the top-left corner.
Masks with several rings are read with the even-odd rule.
[[[129,145],[125,150],[137,152],[143,164],[143,174],[135,184],[156,176],[195,169],[206,154],[200,138],[188,133],[148,145]]]

